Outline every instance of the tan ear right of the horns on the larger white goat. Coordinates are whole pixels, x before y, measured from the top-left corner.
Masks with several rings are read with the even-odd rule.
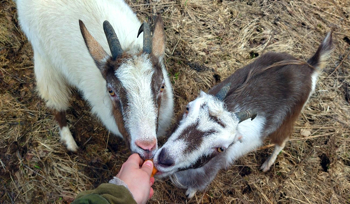
[[[152,35],[152,53],[155,57],[163,60],[165,52],[166,36],[164,32],[164,23],[162,16],[159,14],[155,19]]]

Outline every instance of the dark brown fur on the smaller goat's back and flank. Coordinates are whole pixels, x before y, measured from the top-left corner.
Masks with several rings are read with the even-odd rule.
[[[289,54],[267,53],[237,70],[209,93],[215,95],[231,82],[224,100],[228,109],[232,112],[257,111],[258,117],[266,118],[263,137],[268,136],[273,143],[282,144],[308,99],[313,72],[313,66]]]

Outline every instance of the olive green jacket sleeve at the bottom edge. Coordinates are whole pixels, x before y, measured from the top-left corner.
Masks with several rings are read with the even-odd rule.
[[[94,190],[80,192],[71,204],[137,204],[123,185],[104,183]]]

